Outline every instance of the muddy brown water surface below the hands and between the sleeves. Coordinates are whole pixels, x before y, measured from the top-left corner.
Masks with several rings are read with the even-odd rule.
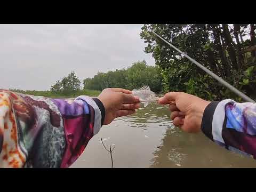
[[[256,167],[256,161],[221,148],[203,134],[172,124],[167,106],[151,103],[136,114],[103,126],[71,167]]]

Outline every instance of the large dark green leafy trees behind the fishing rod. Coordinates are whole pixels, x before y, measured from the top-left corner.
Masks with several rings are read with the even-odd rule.
[[[243,40],[248,34],[246,30],[250,30],[249,25],[146,24],[140,33],[146,43],[145,52],[151,53],[159,66],[164,92],[183,91],[209,100],[231,98],[240,101],[241,98],[151,33],[153,29],[213,73],[256,98],[253,90],[256,87],[256,58],[245,51],[254,45],[251,39]]]

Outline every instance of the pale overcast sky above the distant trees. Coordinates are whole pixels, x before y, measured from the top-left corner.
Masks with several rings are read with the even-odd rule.
[[[50,90],[71,70],[82,80],[138,60],[154,65],[141,26],[0,25],[0,89]]]

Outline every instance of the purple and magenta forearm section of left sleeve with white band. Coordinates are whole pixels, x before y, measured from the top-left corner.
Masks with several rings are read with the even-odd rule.
[[[101,127],[101,112],[90,97],[75,100],[53,99],[63,119],[66,150],[61,167],[69,167],[83,153],[87,143]]]

